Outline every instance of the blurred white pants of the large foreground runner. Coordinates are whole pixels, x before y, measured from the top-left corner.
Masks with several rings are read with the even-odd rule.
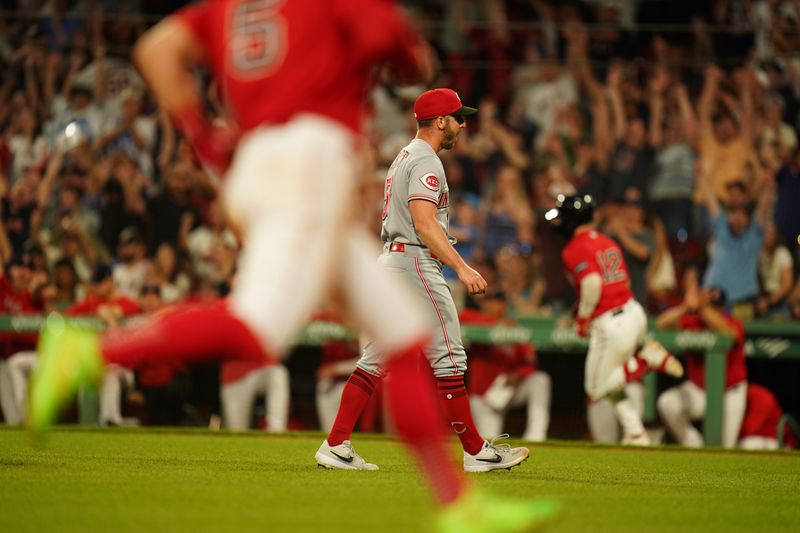
[[[428,329],[409,289],[375,264],[376,239],[356,225],[354,143],[344,126],[300,115],[246,135],[228,174],[225,205],[245,233],[232,308],[277,355],[331,285],[385,353]]]

